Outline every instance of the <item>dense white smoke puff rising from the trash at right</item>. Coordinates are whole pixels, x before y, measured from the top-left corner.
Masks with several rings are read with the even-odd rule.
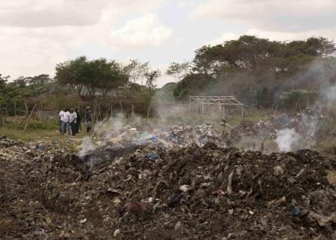
[[[290,152],[293,144],[300,139],[300,135],[297,134],[294,128],[285,128],[280,130],[276,135],[276,145],[278,145],[279,151]]]

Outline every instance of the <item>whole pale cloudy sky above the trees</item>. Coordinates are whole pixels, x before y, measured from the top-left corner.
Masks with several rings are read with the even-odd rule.
[[[336,1],[0,0],[0,33],[0,73],[12,78],[53,75],[57,62],[80,55],[137,58],[164,71],[241,34],[336,39]]]

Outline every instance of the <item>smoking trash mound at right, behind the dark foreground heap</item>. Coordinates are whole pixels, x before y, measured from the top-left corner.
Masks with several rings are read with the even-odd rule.
[[[318,138],[318,121],[324,118],[325,107],[307,108],[300,113],[279,114],[267,121],[243,121],[230,130],[230,142],[236,147],[267,153],[310,148]]]

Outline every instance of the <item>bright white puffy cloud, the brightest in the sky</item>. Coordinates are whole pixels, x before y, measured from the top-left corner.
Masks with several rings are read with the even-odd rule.
[[[111,46],[144,48],[159,46],[172,36],[172,29],[160,22],[158,15],[149,14],[126,22],[124,27],[111,32]]]

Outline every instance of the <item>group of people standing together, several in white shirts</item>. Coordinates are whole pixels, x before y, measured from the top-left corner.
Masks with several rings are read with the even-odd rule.
[[[82,129],[80,126],[80,113],[78,109],[71,108],[70,112],[67,107],[63,107],[62,111],[59,112],[59,132],[64,135],[66,132],[69,135],[76,135]],[[90,122],[91,122],[91,111],[90,107],[85,108],[85,125],[87,133],[90,132]]]

